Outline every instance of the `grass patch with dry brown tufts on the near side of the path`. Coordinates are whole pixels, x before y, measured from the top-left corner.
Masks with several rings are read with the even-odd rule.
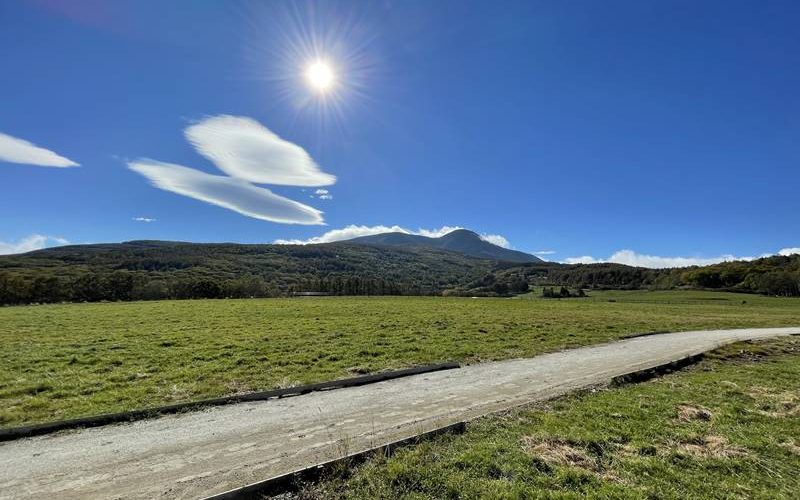
[[[797,498],[800,339],[485,417],[301,498]]]

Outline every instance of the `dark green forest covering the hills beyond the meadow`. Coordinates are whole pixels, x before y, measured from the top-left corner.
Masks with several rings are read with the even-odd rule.
[[[800,296],[800,255],[705,267],[497,262],[424,248],[133,241],[0,256],[0,304],[331,295],[483,295],[532,285]]]

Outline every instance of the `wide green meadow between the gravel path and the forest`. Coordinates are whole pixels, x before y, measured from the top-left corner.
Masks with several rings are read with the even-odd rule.
[[[668,292],[626,301],[610,293],[0,308],[0,426],[422,363],[533,356],[638,332],[800,324],[796,299],[710,294],[724,300],[703,301],[691,298],[703,292]]]

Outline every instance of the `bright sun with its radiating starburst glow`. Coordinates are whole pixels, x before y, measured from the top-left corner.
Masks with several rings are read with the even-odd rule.
[[[376,27],[383,4],[355,9],[344,2],[242,4],[245,79],[261,82],[265,110],[293,113],[324,149],[346,136],[346,124],[377,100],[386,81]],[[366,9],[366,10],[365,10]]]

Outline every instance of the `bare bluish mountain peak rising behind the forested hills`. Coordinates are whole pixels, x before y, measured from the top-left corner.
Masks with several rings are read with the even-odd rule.
[[[438,238],[406,233],[383,233],[361,236],[347,240],[347,243],[373,246],[433,248],[458,252],[479,259],[491,259],[505,262],[543,262],[531,254],[509,250],[485,241],[473,231],[457,229]]]

